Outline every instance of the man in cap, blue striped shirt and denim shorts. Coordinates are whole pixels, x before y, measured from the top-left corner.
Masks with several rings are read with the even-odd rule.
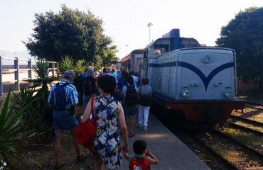
[[[63,162],[61,161],[61,142],[63,139],[63,130],[73,131],[77,126],[77,119],[75,118],[74,109],[77,112],[79,109],[78,98],[77,98],[77,90],[73,85],[73,80],[75,78],[75,73],[72,70],[68,70],[63,74],[63,80],[58,84],[60,86],[65,86],[65,109],[58,110],[53,108],[53,128],[55,129],[55,158],[56,164],[55,169],[60,169],[63,166]],[[50,94],[48,96],[48,103],[52,101],[53,91],[56,88],[56,84],[54,84],[50,89]],[[81,161],[83,159],[82,154],[80,152],[80,145],[77,143],[77,139],[74,137],[73,140],[74,147],[77,152],[77,160]]]

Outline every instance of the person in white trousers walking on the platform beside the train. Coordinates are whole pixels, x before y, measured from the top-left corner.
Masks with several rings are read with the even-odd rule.
[[[138,123],[139,127],[143,130],[147,130],[148,127],[148,117],[151,105],[151,95],[152,89],[148,85],[149,79],[146,77],[141,79],[141,86],[138,87],[139,93],[139,113],[138,113]]]

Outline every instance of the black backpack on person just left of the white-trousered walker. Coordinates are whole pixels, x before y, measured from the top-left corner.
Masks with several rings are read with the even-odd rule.
[[[124,104],[127,106],[135,106],[138,104],[139,95],[135,89],[135,86],[127,86],[126,96],[124,98]]]

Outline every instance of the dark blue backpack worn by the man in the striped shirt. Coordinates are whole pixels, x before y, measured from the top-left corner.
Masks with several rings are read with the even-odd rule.
[[[65,84],[63,85],[60,85],[59,83],[55,84],[55,89],[53,90],[50,102],[53,109],[57,111],[65,110],[65,107],[68,104],[65,94],[65,86],[68,86],[68,84],[68,81],[65,81]]]

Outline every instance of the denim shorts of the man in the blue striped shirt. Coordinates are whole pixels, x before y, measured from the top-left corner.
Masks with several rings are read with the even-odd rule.
[[[53,128],[55,130],[73,130],[77,124],[75,115],[70,115],[70,111],[53,110]]]

